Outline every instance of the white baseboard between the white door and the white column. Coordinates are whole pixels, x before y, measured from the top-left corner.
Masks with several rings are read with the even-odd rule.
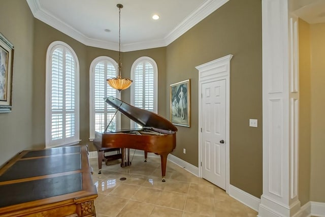
[[[258,211],[258,205],[261,203],[261,199],[244,192],[243,190],[235,187],[234,185],[229,185],[229,195],[246,206]]]

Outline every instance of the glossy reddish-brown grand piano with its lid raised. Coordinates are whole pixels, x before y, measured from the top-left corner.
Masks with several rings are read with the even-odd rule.
[[[137,122],[142,126],[142,129],[107,132],[106,128],[104,132],[95,132],[93,144],[98,153],[99,174],[102,169],[103,151],[109,148],[121,148],[121,167],[124,167],[130,165],[129,150],[125,149],[134,148],[144,150],[145,162],[148,152],[160,156],[161,176],[163,177],[162,181],[165,182],[167,156],[176,147],[177,128],[166,118],[151,111],[129,105],[115,97],[107,97],[105,102]],[[126,155],[127,158],[125,157]]]

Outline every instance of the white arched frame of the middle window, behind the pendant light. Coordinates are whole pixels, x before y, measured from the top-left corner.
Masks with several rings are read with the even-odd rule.
[[[95,138],[95,108],[94,108],[94,73],[95,67],[101,61],[109,61],[115,68],[115,73],[117,75],[117,63],[109,56],[99,56],[92,60],[89,68],[89,141],[93,141]],[[121,93],[116,90],[116,98],[121,98]],[[121,128],[121,114],[117,112],[116,115],[116,129]]]

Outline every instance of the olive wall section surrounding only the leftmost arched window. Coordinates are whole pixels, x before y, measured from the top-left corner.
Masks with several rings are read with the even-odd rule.
[[[76,52],[79,60],[80,85],[80,139],[86,144],[89,139],[89,66],[87,65],[87,47],[55,28],[34,20],[34,73],[33,78],[33,140],[32,143],[45,147],[45,84],[46,52],[53,41],[63,41]]]

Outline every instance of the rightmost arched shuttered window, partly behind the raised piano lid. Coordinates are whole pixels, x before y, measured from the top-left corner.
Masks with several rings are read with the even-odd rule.
[[[156,62],[148,57],[138,58],[131,68],[131,104],[138,108],[157,113],[158,68]],[[139,126],[131,121],[131,128]]]

